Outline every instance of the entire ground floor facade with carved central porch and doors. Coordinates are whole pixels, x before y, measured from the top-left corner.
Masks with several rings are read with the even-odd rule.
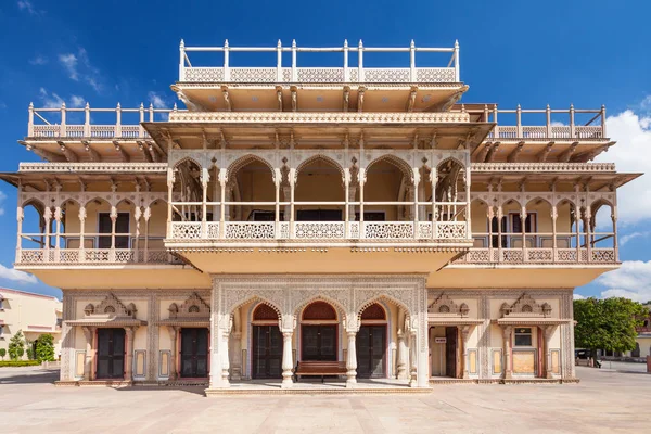
[[[196,290],[64,291],[61,384],[573,381],[571,290],[427,289],[420,276],[219,276]],[[314,379],[312,379],[314,380]],[[321,379],[319,378],[320,382]]]

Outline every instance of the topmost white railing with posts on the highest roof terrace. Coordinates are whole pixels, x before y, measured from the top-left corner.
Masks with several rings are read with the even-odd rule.
[[[179,81],[181,82],[246,82],[246,84],[416,84],[416,82],[459,82],[459,43],[452,48],[421,48],[413,41],[406,48],[369,48],[359,41],[357,47],[349,47],[344,41],[336,48],[282,47],[280,40],[276,47],[230,47],[228,40],[224,47],[186,47],[181,41],[179,60]],[[224,65],[220,67],[193,66],[188,53],[221,52]],[[276,52],[276,67],[232,67],[230,54],[235,52]],[[282,53],[292,53],[292,66],[282,66]],[[343,67],[298,67],[297,53],[303,52],[341,52]],[[348,64],[348,53],[357,53],[357,65]],[[409,67],[405,68],[369,68],[363,66],[365,53],[404,52],[409,53]],[[451,58],[445,67],[416,67],[416,53],[449,53]]]

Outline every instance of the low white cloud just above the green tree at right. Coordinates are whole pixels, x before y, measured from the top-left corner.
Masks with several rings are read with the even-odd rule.
[[[636,302],[651,299],[651,260],[625,260],[622,267],[595,281],[604,286],[601,297],[626,297]]]

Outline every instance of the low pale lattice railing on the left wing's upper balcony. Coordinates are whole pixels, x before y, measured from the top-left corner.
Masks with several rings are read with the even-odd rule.
[[[21,248],[17,265],[38,264],[180,264],[166,250],[135,248]]]

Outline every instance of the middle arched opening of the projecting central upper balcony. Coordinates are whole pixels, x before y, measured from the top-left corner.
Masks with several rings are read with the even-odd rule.
[[[296,221],[344,220],[343,170],[334,161],[319,155],[299,165],[294,189]]]

